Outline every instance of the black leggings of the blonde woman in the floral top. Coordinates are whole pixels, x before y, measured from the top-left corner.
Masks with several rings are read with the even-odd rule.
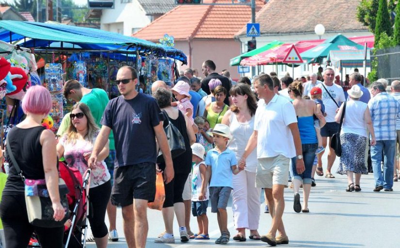
[[[89,202],[92,206],[89,212],[89,223],[93,237],[102,238],[108,234],[108,228],[104,222],[107,204],[111,195],[111,180],[100,186],[90,188]]]

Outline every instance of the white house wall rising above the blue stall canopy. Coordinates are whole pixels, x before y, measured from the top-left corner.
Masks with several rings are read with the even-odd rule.
[[[132,30],[139,30],[150,24],[151,16],[141,8],[137,0],[115,0],[114,9],[103,9],[100,18],[100,29],[132,35]]]

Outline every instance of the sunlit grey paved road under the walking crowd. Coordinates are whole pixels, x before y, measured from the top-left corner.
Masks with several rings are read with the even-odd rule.
[[[326,161],[326,154],[325,160]],[[333,170],[336,171],[338,158]],[[296,248],[398,248],[400,247],[400,182],[394,182],[393,192],[372,192],[374,188],[373,175],[363,176],[361,192],[345,192],[347,179],[335,174],[336,179],[316,176],[317,186],[311,189],[309,198],[310,213],[295,213],[293,211],[293,191],[285,189],[285,212],[283,220],[289,237],[289,244],[284,247]],[[302,194],[300,192],[300,194]],[[262,201],[260,198],[260,202]],[[233,226],[231,204],[228,206],[228,228],[231,235],[236,233]],[[259,233],[265,234],[271,225],[271,216],[264,214],[261,205]],[[209,209],[208,209],[209,210]],[[154,238],[164,230],[160,211],[149,210],[149,232],[146,247],[148,248],[200,248],[217,247],[215,239],[220,235],[217,216],[208,212],[210,240],[190,241],[181,243],[176,238],[176,244],[155,244]],[[192,231],[197,231],[195,217],[191,219]],[[120,235],[118,242],[109,243],[110,248],[125,248],[123,237],[121,210],[117,210],[117,229]],[[175,220],[174,231],[178,235]],[[247,232],[248,235],[248,232]],[[88,248],[96,247],[87,243]],[[269,246],[261,241],[234,242],[229,247]]]

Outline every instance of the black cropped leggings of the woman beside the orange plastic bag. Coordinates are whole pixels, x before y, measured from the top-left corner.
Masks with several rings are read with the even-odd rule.
[[[182,194],[185,187],[186,180],[188,180],[189,173],[175,174],[174,179],[165,184],[165,201],[162,205],[163,208],[173,207],[176,202],[183,202]]]

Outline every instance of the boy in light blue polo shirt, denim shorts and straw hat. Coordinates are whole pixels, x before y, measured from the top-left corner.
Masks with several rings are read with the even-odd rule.
[[[206,157],[206,181],[209,184],[209,199],[211,201],[211,213],[217,213],[218,225],[221,236],[215,244],[226,244],[229,242],[228,215],[226,206],[233,189],[233,174],[238,174],[244,167],[237,166],[235,153],[226,148],[232,138],[229,127],[224,124],[216,124],[210,135],[213,136],[215,148],[207,152]],[[206,195],[206,185],[202,185],[199,199]]]

